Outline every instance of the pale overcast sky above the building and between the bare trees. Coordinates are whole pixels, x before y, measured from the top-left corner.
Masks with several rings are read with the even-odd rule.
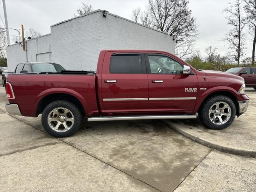
[[[2,0],[0,7],[0,26],[4,26],[4,13]],[[121,17],[131,19],[131,12],[140,6],[144,9],[147,0],[6,0],[6,9],[9,28],[21,28],[24,24],[25,30],[35,28],[42,34],[50,33],[50,26],[60,21],[72,18],[82,2],[91,4],[94,10],[107,10]],[[224,7],[228,0],[189,0],[189,8],[199,24],[199,39],[196,41],[196,49],[205,56],[208,46],[218,48],[218,53],[225,55],[228,47],[220,41],[230,29],[227,26]],[[10,35],[17,32],[10,30]],[[10,37],[12,39],[12,36]],[[247,56],[251,56],[252,37],[247,37]]]

